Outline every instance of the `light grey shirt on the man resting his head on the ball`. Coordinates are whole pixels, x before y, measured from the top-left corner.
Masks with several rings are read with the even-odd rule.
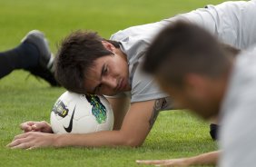
[[[138,25],[121,30],[111,36],[111,40],[121,44],[121,50],[127,55],[132,91],[120,93],[113,97],[127,95],[131,102],[141,102],[168,95],[162,93],[151,76],[141,70],[143,56],[153,38],[166,25],[183,19],[204,27],[224,43],[238,48],[248,48],[256,44],[255,0],[250,2],[225,2],[221,5],[207,5],[207,8],[194,10],[188,14],[176,15],[148,25]]]

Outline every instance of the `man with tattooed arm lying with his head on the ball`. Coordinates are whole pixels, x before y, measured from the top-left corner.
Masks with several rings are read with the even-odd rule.
[[[70,34],[55,57],[56,79],[75,93],[108,95],[114,113],[113,131],[54,134],[48,123],[27,122],[21,125],[26,133],[17,135],[9,147],[142,145],[159,111],[172,108],[169,95],[141,70],[154,36],[181,19],[202,26],[224,43],[244,49],[256,44],[256,36],[251,35],[256,34],[256,21],[251,19],[256,15],[255,7],[255,1],[208,5],[153,24],[127,28],[113,34],[110,40],[93,32]],[[212,138],[216,138],[214,131]]]

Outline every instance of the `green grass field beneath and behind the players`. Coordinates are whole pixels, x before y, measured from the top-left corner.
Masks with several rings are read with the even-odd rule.
[[[32,29],[44,31],[51,49],[70,32],[91,29],[108,38],[132,25],[159,21],[223,0],[0,0],[0,51],[20,43]],[[217,149],[209,123],[185,111],[162,112],[140,148],[45,148],[11,150],[19,124],[49,121],[64,88],[53,88],[22,70],[0,80],[0,166],[137,166],[136,159],[166,159]],[[143,166],[143,165],[141,165]]]

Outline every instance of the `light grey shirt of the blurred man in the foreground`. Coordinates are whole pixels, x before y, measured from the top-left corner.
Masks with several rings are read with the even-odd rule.
[[[221,113],[220,166],[256,166],[256,47],[237,58]]]

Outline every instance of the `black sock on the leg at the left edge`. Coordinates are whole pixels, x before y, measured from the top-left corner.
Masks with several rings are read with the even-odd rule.
[[[20,44],[15,49],[0,53],[0,78],[15,69],[36,66],[38,61],[39,52],[34,44]]]

